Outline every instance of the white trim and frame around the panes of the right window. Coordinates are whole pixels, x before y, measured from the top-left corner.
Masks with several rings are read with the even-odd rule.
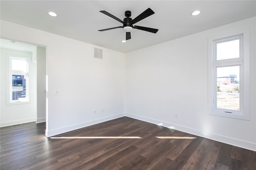
[[[242,81],[242,84],[240,85],[240,112],[233,112],[233,113],[226,113],[223,109],[223,111],[218,111],[214,109],[214,74],[216,74],[215,66],[218,66],[218,61],[214,63],[214,40],[222,39],[222,38],[229,38],[234,36],[243,35],[242,38],[242,45],[243,45],[243,51],[241,58],[234,58],[232,59],[232,63],[230,63],[230,66],[232,65],[240,65],[240,69],[243,69],[243,74],[240,74],[240,81]],[[228,59],[230,61],[230,59]],[[241,60],[243,60],[241,64]],[[224,63],[225,61],[220,61],[221,63]],[[208,38],[208,114],[209,115],[215,115],[215,116],[221,116],[221,117],[229,117],[234,119],[243,119],[243,120],[250,120],[250,29],[242,29],[237,30],[225,34],[220,34],[217,36],[212,36]]]

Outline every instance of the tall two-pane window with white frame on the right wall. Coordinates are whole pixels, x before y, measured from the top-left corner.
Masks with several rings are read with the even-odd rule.
[[[249,31],[208,39],[211,115],[250,119]]]

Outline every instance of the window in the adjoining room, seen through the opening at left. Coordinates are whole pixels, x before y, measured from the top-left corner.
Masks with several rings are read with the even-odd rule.
[[[7,105],[28,103],[29,57],[8,54],[6,61]]]

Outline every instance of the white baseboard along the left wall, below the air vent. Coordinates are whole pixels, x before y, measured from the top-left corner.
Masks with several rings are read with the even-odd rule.
[[[76,130],[76,129],[79,129],[79,128],[88,127],[88,126],[91,126],[91,125],[95,125],[95,124],[98,124],[98,123],[110,121],[112,119],[117,119],[117,118],[124,117],[124,116],[125,116],[124,113],[120,113],[118,115],[112,115],[112,116],[109,116],[109,117],[104,117],[104,118],[101,118],[101,119],[96,119],[96,120],[80,123],[80,124],[77,124],[77,125],[71,125],[71,126],[68,126],[68,127],[58,128],[58,129],[54,129],[54,130],[50,130],[50,131],[46,130],[45,131],[45,136],[46,137],[55,136],[57,134],[62,134],[62,133],[65,133],[65,132],[69,132],[69,131]]]

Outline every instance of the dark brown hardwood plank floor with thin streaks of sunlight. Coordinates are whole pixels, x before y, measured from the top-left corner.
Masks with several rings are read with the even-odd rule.
[[[0,169],[256,170],[256,152],[128,117],[56,138],[44,131],[45,123],[1,129]]]

